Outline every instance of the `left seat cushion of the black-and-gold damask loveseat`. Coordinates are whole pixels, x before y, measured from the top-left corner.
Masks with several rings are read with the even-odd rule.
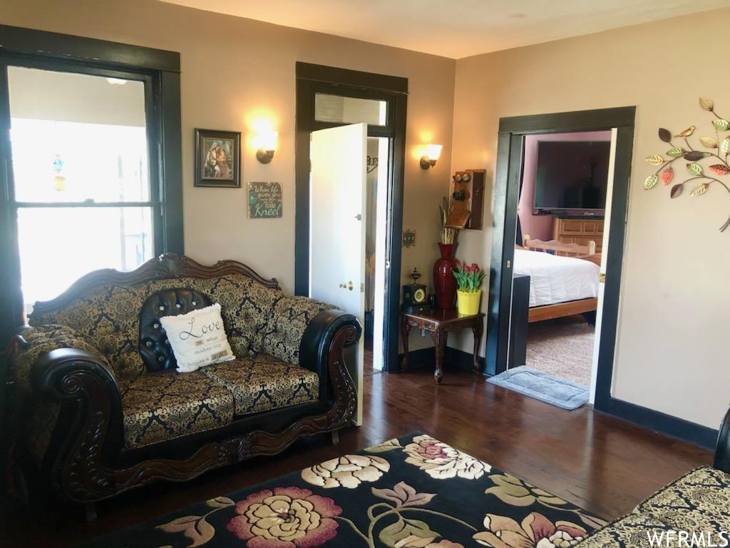
[[[128,383],[121,397],[130,448],[225,426],[234,414],[231,392],[201,371],[145,373]]]

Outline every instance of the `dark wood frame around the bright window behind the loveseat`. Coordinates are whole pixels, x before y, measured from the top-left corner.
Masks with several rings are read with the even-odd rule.
[[[0,25],[0,339],[22,323],[20,257],[9,143],[7,66],[121,77],[145,82],[155,253],[183,254],[180,53],[69,34]],[[107,207],[107,204],[99,207]],[[88,207],[88,206],[85,206]],[[159,218],[162,221],[159,221]],[[1,343],[1,342],[0,342]]]

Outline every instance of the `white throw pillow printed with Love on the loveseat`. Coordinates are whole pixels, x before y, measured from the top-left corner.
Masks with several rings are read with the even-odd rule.
[[[160,322],[172,346],[179,373],[236,359],[228,344],[218,302],[180,316],[164,316]]]

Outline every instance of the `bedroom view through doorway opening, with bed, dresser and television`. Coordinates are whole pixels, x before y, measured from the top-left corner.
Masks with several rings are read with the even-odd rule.
[[[604,225],[613,174],[612,131],[524,138],[512,306],[527,316],[510,344],[515,359],[591,386]]]

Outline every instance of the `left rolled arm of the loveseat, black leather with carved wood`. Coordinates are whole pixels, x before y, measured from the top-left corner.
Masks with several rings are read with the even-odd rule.
[[[52,430],[37,458],[42,475],[66,500],[93,501],[112,494],[115,486],[102,471],[108,448],[119,446],[123,438],[112,368],[65,326],[26,330],[18,347],[13,369],[18,384],[32,395],[27,405],[37,406],[40,399],[57,409],[53,422],[45,425]],[[26,414],[31,416],[32,410]],[[34,435],[27,426],[26,437]]]

